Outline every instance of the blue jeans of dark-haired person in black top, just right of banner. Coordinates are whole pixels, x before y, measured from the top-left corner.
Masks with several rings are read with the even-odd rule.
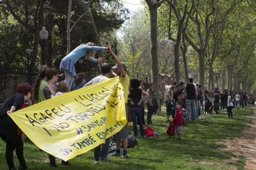
[[[137,117],[138,122],[140,126],[140,135],[144,135],[144,128],[143,128],[143,122],[142,122],[142,108],[141,107],[130,107],[130,113],[132,113],[132,124],[134,127],[134,135],[137,137],[138,135],[138,128],[137,128]]]

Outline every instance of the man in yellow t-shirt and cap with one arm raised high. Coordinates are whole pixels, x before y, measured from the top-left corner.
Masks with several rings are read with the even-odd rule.
[[[114,73],[116,73],[119,76],[120,82],[122,84],[122,87],[124,87],[124,100],[126,102],[126,119],[128,120],[128,106],[127,106],[127,101],[128,101],[128,95],[129,95],[129,83],[130,79],[127,74],[127,68],[126,64],[120,61],[119,57],[114,54],[113,50],[111,49],[111,46],[108,48],[109,53],[113,56],[113,58],[116,61],[116,65],[112,67],[114,69]],[[112,156],[120,156],[120,158],[129,158],[129,155],[127,153],[127,146],[128,146],[128,132],[129,132],[129,127],[128,124],[126,124],[122,130],[117,132],[116,134],[116,151],[112,154]],[[121,156],[121,141],[122,141],[122,146],[124,148],[124,152]]]

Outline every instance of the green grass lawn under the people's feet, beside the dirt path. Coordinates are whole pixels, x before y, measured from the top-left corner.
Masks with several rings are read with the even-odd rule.
[[[244,108],[235,109],[233,119],[228,119],[226,111],[219,115],[202,116],[183,127],[182,140],[177,140],[177,136],[169,138],[165,134],[168,123],[165,122],[164,115],[153,116],[152,127],[162,136],[138,138],[139,148],[128,151],[130,159],[110,158],[108,163],[94,164],[93,152],[88,151],[71,159],[70,166],[62,166],[58,159],[57,169],[231,169],[234,166],[243,169],[243,156],[239,156],[234,163],[228,163],[225,160],[234,155],[221,151],[220,148],[226,147],[224,139],[242,135],[241,131],[250,123],[250,119],[245,116],[252,114],[252,109]],[[32,143],[25,142],[24,152],[29,169],[51,169],[48,155],[39,151]],[[1,170],[7,169],[4,153],[5,143],[0,141]],[[14,160],[16,168],[19,168],[16,156]]]

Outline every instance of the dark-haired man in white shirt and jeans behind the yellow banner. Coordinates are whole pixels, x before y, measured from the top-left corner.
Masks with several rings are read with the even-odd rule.
[[[93,83],[101,82],[103,80],[108,79],[109,74],[111,74],[111,66],[108,63],[104,62],[103,64],[101,64],[100,72],[101,72],[101,75],[98,75],[97,77],[90,80],[90,82],[86,83],[84,87],[88,85],[92,85]],[[98,147],[95,147],[93,149],[95,163],[99,161],[100,162],[108,161],[109,144],[110,144],[110,138],[106,138],[105,143],[98,145]]]

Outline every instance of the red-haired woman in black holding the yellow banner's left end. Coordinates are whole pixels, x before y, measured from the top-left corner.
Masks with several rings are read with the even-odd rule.
[[[17,88],[17,93],[13,95],[7,101],[7,114],[11,114],[14,111],[25,108],[25,101],[30,100],[32,94],[32,87],[28,83],[21,83]],[[27,169],[27,164],[23,156],[23,141],[25,134],[19,129],[19,127],[12,121],[11,117],[6,115],[1,120],[1,134],[4,135],[6,140],[6,162],[9,169],[15,169],[14,167],[14,150],[16,150],[17,158],[20,163],[20,170]]]

